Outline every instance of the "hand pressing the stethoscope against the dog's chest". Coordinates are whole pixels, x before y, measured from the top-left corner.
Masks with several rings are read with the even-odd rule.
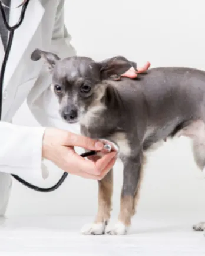
[[[116,161],[116,152],[100,159],[91,160],[78,155],[74,146],[88,150],[103,150],[103,143],[65,130],[46,128],[42,143],[42,157],[51,160],[65,172],[87,179],[101,180],[110,171]]]

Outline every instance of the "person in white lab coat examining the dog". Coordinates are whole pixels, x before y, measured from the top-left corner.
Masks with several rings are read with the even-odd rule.
[[[11,1],[12,4],[16,0],[4,1]],[[9,13],[9,23],[14,24],[18,19],[18,11]],[[5,50],[5,34],[2,34],[0,67]],[[65,172],[98,180],[115,163],[114,152],[97,162],[85,160],[75,153],[74,146],[101,150],[103,145],[78,135],[77,126],[61,120],[57,100],[49,90],[51,75],[42,64],[31,61],[35,48],[54,52],[61,58],[75,55],[70,41],[71,36],[64,26],[64,0],[29,1],[24,22],[15,31],[4,79],[0,122],[0,216],[5,214],[9,200],[12,184],[9,173],[19,176],[29,173],[45,178],[41,168],[42,158],[45,158]],[[31,113],[42,127],[12,124],[12,118],[24,100],[27,100]]]

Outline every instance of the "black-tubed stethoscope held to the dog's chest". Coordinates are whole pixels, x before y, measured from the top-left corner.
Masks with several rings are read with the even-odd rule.
[[[4,4],[4,2],[0,0],[0,11],[1,11],[2,17],[4,19],[5,27],[6,27],[6,29],[8,29],[8,32],[9,32],[8,44],[6,46],[6,51],[5,51],[4,60],[3,60],[3,63],[2,63],[1,73],[0,73],[0,120],[1,120],[1,114],[2,114],[2,94],[3,94],[4,74],[5,74],[5,70],[6,70],[6,64],[8,63],[9,53],[10,53],[11,47],[12,47],[12,41],[13,41],[13,38],[14,38],[14,31],[16,29],[18,29],[19,26],[24,21],[25,12],[27,11],[27,6],[29,4],[29,1],[30,0],[24,0],[18,6],[14,7],[14,8],[20,8],[21,7],[22,8],[21,9],[21,14],[20,14],[18,22],[15,25],[10,26],[8,24],[7,19],[6,19],[6,14],[5,14],[4,8],[10,8],[11,9],[11,7],[6,6]],[[111,142],[110,140],[106,140],[106,139],[99,139],[99,140],[104,143],[104,150],[103,150],[104,153],[108,153],[108,152],[111,152],[113,150],[118,152],[119,149],[118,149],[118,146],[117,146],[116,143]],[[88,151],[88,152],[82,153],[80,156],[88,157],[88,156],[92,156],[92,155],[96,155],[96,154],[97,154],[96,151]],[[24,179],[21,179],[18,175],[12,174],[12,176],[16,180],[18,180],[19,182],[21,182],[23,185],[27,186],[30,189],[34,189],[35,191],[39,191],[39,192],[51,192],[51,191],[54,191],[55,189],[59,188],[59,186],[62,185],[64,180],[67,178],[68,173],[64,172],[64,174],[61,176],[59,181],[54,186],[51,186],[50,188],[39,188],[38,186],[32,185],[31,183],[28,183]]]

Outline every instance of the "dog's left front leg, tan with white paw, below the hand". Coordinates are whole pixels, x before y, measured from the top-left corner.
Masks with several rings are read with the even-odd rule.
[[[111,212],[111,198],[113,195],[113,170],[98,182],[98,213],[95,222],[83,227],[81,234],[102,235],[105,232]]]

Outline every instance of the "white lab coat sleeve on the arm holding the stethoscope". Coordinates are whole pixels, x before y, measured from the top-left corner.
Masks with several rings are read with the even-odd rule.
[[[42,179],[43,127],[0,122],[0,171]]]

